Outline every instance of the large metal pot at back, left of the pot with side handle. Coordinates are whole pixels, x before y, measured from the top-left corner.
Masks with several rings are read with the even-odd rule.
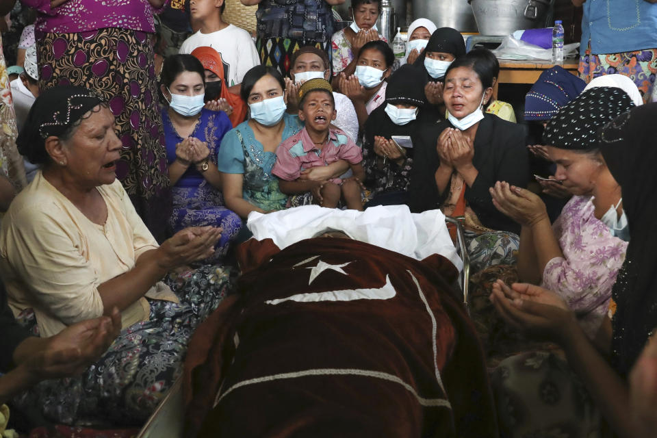
[[[413,0],[413,17],[428,18],[439,28],[453,27],[459,32],[477,31],[472,8],[466,0]]]

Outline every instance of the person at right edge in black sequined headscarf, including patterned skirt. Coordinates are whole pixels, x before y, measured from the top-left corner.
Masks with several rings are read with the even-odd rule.
[[[555,342],[567,359],[565,363],[555,355],[523,355],[500,364],[491,380],[502,430],[513,424],[517,432],[510,437],[544,430],[564,437],[597,436],[609,427],[620,438],[654,436],[655,430],[649,426],[655,419],[654,362],[652,370],[644,365],[651,350],[654,355],[651,335],[657,327],[657,270],[652,256],[656,245],[656,119],[657,104],[641,105],[599,131],[602,157],[622,188],[630,245],[613,287],[611,321],[606,320],[608,329],[597,345],[587,339],[576,313],[557,291],[526,284],[508,287],[498,283],[493,287],[491,300],[509,324]],[[647,354],[639,359],[644,349]],[[637,366],[641,370],[630,376],[630,389],[628,374]],[[642,382],[641,373],[646,371],[652,376],[643,375]],[[532,381],[518,379],[521,372],[536,377]],[[637,388],[637,383],[645,383],[645,387]],[[528,397],[542,398],[543,403],[521,405]],[[637,402],[643,402],[640,410]]]

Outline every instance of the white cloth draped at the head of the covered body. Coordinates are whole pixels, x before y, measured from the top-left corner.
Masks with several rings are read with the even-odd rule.
[[[255,239],[272,239],[281,250],[331,229],[417,260],[439,254],[463,270],[440,210],[415,214],[406,205],[378,205],[365,211],[304,205],[269,214],[252,211],[246,227]]]

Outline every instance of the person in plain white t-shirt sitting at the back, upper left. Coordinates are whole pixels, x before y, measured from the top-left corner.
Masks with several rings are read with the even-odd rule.
[[[240,94],[242,79],[248,70],[260,64],[253,39],[244,29],[229,25],[221,18],[224,0],[192,0],[190,16],[200,27],[180,47],[180,53],[192,53],[196,47],[212,47],[221,55],[224,77],[233,94]]]

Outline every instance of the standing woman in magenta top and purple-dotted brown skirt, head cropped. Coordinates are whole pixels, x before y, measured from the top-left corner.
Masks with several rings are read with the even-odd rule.
[[[116,176],[162,240],[170,194],[154,70],[153,14],[166,0],[21,0],[38,14],[40,87],[101,92],[123,143]]]

